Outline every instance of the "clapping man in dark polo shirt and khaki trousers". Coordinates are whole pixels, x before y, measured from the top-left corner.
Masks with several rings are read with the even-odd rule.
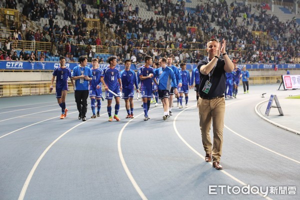
[[[222,154],[223,127],[225,114],[225,72],[233,70],[233,63],[228,57],[222,40],[222,46],[217,39],[206,43],[208,56],[197,64],[200,72],[198,109],[202,144],[205,150],[205,161],[210,162],[215,169],[222,169],[220,157]],[[219,58],[222,53],[223,59]],[[213,146],[210,140],[210,124],[212,120]]]

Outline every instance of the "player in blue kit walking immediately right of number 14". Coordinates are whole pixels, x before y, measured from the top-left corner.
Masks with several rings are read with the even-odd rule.
[[[125,107],[127,110],[126,118],[134,118],[133,115],[133,97],[134,97],[134,85],[136,92],[138,92],[137,78],[135,72],[130,69],[131,61],[125,60],[125,69],[120,72],[122,81],[122,98],[125,100]]]

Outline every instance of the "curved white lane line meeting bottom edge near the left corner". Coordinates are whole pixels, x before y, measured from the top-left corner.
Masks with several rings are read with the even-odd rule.
[[[91,119],[88,119],[88,120],[91,120]],[[86,120],[86,121],[88,121]],[[62,133],[60,136],[58,136],[52,143],[50,143],[50,145],[48,145],[48,147],[41,153],[41,155],[38,157],[38,159],[36,160],[36,162],[34,163],[32,169],[30,170],[24,184],[23,184],[23,187],[22,187],[22,190],[19,194],[19,197],[18,197],[18,200],[23,200],[24,199],[24,196],[25,196],[25,193],[26,193],[26,190],[28,188],[28,185],[29,185],[29,182],[35,172],[35,169],[37,168],[40,160],[44,157],[44,155],[48,152],[48,150],[63,136],[65,135],[66,133],[68,133],[69,131],[71,131],[72,129],[74,129],[75,127],[81,125],[82,123],[86,122],[86,121],[82,121],[81,123],[78,123],[77,125],[73,126],[72,128],[68,129],[67,131],[65,131],[64,133]]]

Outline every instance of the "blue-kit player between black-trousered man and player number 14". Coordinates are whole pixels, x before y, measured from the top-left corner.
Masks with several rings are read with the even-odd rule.
[[[99,63],[97,58],[91,59],[91,73],[92,79],[89,81],[89,97],[90,97],[90,108],[92,111],[92,116],[90,118],[96,118],[100,116],[101,108],[101,97],[102,97],[102,82],[101,73],[102,69],[98,68]],[[95,114],[95,102],[97,101],[97,115]]]

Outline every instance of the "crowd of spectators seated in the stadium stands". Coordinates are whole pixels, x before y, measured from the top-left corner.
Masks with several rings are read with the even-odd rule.
[[[16,2],[6,0],[6,7],[14,6],[14,3],[9,4],[10,1]],[[228,54],[241,63],[300,61],[299,51],[295,49],[300,38],[299,25],[295,19],[279,21],[277,16],[267,14],[263,8],[265,6],[259,3],[256,6],[245,6],[236,2],[228,5],[225,0],[219,0],[219,3],[204,1],[185,14],[183,0],[147,0],[145,8],[154,12],[157,17],[142,18],[139,7],[127,4],[125,0],[85,1],[96,8],[96,13],[88,11],[85,3],[78,6],[80,1],[63,2],[65,7],[61,8],[58,0],[45,0],[43,4],[36,0],[23,0],[23,14],[31,20],[48,18],[48,23],[42,30],[29,30],[25,21],[18,29],[12,24],[10,29],[15,31],[11,38],[7,38],[7,42],[21,39],[51,42],[49,55],[67,54],[70,61],[80,55],[86,55],[91,60],[97,48],[116,46],[113,51],[120,62],[130,58],[142,62],[147,54],[153,60],[173,55],[175,62],[180,63],[196,62],[204,57],[200,49],[205,48],[206,34],[220,40],[225,38]],[[71,24],[60,27],[55,19],[57,14],[62,14]],[[87,30],[84,17],[99,18],[119,37],[100,38],[96,28]],[[191,27],[197,27],[201,34]],[[157,31],[164,31],[163,36],[157,38]],[[266,35],[261,32],[266,32]],[[7,46],[7,42],[4,46]],[[16,47],[17,42],[14,44]],[[10,45],[13,47],[14,44]],[[9,52],[14,53],[11,50]],[[35,59],[36,57],[39,58],[35,56]]]

